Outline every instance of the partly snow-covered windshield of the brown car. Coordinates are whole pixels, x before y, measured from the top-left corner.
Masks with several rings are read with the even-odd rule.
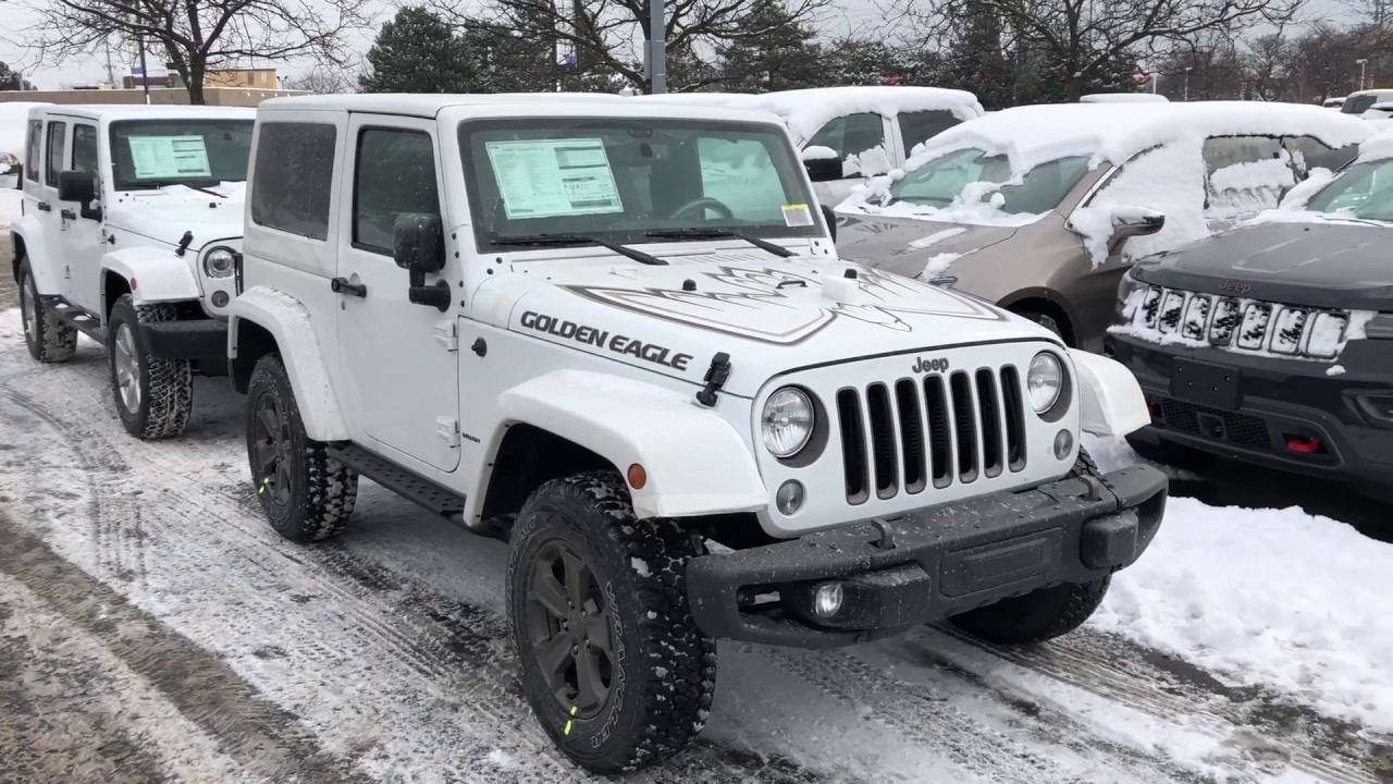
[[[1011,165],[1004,155],[988,155],[976,148],[957,149],[929,160],[890,186],[890,199],[921,206],[949,206],[956,199],[978,201],[999,193],[997,208],[1010,215],[1038,215],[1055,209],[1060,199],[1088,173],[1088,158],[1059,158],[1035,166],[1020,184],[1011,180]],[[968,188],[974,183],[988,186]]]

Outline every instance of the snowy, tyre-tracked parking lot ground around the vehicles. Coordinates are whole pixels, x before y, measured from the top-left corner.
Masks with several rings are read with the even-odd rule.
[[[578,781],[515,682],[503,544],[365,484],[347,536],[262,520],[241,399],[141,442],[82,342],[0,312],[0,780]],[[1105,467],[1133,459],[1094,444]],[[720,647],[702,741],[638,781],[1393,781],[1393,545],[1173,502],[1078,633]]]

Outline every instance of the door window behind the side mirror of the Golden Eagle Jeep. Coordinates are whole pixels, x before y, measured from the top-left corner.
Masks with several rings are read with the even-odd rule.
[[[403,128],[364,128],[358,134],[352,199],[354,244],[391,255],[398,215],[440,215],[430,137]]]

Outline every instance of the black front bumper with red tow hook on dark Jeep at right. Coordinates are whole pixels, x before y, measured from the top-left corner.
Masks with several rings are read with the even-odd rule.
[[[1151,406],[1152,424],[1130,435],[1134,442],[1393,488],[1393,419],[1368,406],[1393,403],[1390,340],[1351,340],[1337,363],[1158,346],[1123,335],[1109,335],[1103,353],[1133,371]],[[1344,372],[1330,375],[1336,364]]]

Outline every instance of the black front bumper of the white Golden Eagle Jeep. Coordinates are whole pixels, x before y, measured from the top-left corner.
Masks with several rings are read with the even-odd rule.
[[[862,520],[795,540],[695,558],[687,568],[703,632],[766,644],[836,647],[1133,564],[1166,506],[1165,474],[1134,466],[1102,483],[1061,480]],[[816,586],[841,610],[818,618]],[[777,591],[775,603],[755,597]]]

